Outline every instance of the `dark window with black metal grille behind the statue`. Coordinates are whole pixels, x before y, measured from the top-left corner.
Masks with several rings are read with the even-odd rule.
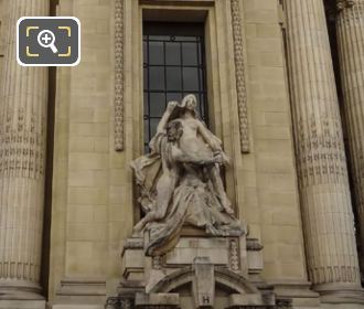
[[[208,126],[203,33],[201,23],[143,23],[144,152],[170,100],[194,94]]]

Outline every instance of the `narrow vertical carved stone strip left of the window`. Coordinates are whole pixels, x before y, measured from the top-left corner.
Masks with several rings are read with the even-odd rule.
[[[124,0],[115,0],[114,147],[124,150]]]

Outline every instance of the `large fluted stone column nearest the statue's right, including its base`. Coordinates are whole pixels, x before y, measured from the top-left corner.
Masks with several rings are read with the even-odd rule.
[[[287,40],[307,267],[324,302],[362,301],[342,126],[322,0],[289,0]]]

